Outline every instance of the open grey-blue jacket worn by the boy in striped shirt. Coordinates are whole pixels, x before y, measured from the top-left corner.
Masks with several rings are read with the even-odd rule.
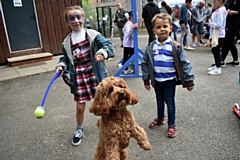
[[[149,80],[151,80],[151,85],[155,87],[155,74],[154,74],[154,66],[153,66],[153,44],[151,43],[146,47],[145,54],[143,56],[141,68],[142,68],[142,79],[145,85],[149,85]],[[183,82],[185,82],[185,86],[189,87],[193,86],[194,83],[194,74],[193,69],[190,62],[186,59],[185,51],[181,46],[174,46],[174,56],[175,56],[175,65],[180,69],[180,75],[178,75]],[[177,68],[177,67],[176,67]],[[177,69],[176,69],[177,72]]]

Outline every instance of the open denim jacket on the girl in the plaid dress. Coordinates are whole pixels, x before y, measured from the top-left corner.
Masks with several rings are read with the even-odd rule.
[[[84,28],[88,34],[89,42],[90,42],[90,58],[93,64],[93,72],[96,76],[97,82],[100,83],[103,78],[109,76],[108,70],[106,68],[105,62],[95,62],[94,57],[97,54],[101,54],[104,56],[104,59],[115,57],[115,51],[113,44],[105,39],[99,32]],[[62,43],[62,52],[63,57],[59,59],[58,66],[62,66],[64,69],[70,71],[70,81],[75,86],[76,80],[76,71],[72,56],[71,44],[70,44],[71,33],[64,39]],[[103,76],[104,75],[104,76]],[[74,90],[71,89],[71,93],[74,93]]]

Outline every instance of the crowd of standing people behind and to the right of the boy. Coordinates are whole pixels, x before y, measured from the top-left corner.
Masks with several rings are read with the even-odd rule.
[[[180,43],[182,48],[195,50],[196,47],[212,47],[214,64],[208,68],[208,74],[218,75],[222,73],[221,67],[225,65],[239,66],[236,43],[239,40],[240,32],[240,14],[238,14],[240,2],[215,0],[213,3],[213,6],[211,3],[205,5],[205,2],[200,0],[196,6],[192,6],[192,0],[185,0],[185,4],[175,5],[174,8],[171,8],[167,1],[162,1],[160,12],[172,16],[173,38]],[[148,0],[148,4],[143,8],[142,18],[144,22],[147,22],[145,23],[146,28],[148,28],[147,25],[153,15],[157,14],[145,11],[149,5],[154,6],[152,0]],[[147,16],[149,13],[152,15]],[[178,40],[177,33],[179,31],[181,36]],[[151,32],[148,31],[148,33],[149,37],[152,37]],[[208,39],[207,43],[203,44],[202,38]],[[233,61],[225,63],[229,51],[231,51]]]

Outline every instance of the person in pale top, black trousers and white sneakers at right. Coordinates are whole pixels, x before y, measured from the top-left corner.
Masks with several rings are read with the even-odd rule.
[[[221,74],[221,48],[223,47],[224,37],[225,37],[225,26],[226,26],[226,17],[227,11],[224,7],[225,0],[214,0],[214,8],[216,9],[213,14],[212,18],[209,19],[208,25],[210,26],[210,32],[212,39],[213,36],[218,42],[218,44],[214,44],[212,46],[212,54],[215,61],[215,66],[208,68],[208,74],[210,75],[218,75]],[[218,32],[214,32],[214,30],[218,30]],[[216,35],[218,33],[218,35]],[[212,39],[213,40],[213,39]],[[216,42],[215,42],[216,43]]]

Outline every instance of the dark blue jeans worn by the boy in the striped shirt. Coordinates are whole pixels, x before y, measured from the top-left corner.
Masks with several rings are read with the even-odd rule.
[[[175,90],[176,80],[168,80],[164,82],[155,81],[155,93],[157,99],[157,116],[158,119],[164,117],[164,106],[167,104],[168,125],[175,124]]]

